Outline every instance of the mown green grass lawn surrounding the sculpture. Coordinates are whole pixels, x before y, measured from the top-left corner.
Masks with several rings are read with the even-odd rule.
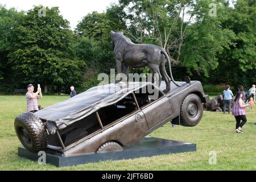
[[[68,96],[44,96],[43,107],[67,99]],[[57,168],[18,157],[20,142],[14,131],[14,118],[26,111],[24,96],[0,96],[0,170],[255,170],[256,107],[247,109],[244,134],[235,133],[231,114],[204,111],[195,127],[171,127],[170,122],[150,134],[197,144],[196,152],[159,155],[150,158],[88,163]],[[217,164],[210,165],[209,152],[217,154]]]

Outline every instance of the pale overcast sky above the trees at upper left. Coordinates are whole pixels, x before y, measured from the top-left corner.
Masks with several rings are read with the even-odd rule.
[[[60,14],[69,20],[72,30],[83,16],[92,11],[102,13],[114,2],[118,0],[0,0],[0,4],[6,5],[7,8],[15,7],[19,11],[30,10],[34,5],[59,6]]]

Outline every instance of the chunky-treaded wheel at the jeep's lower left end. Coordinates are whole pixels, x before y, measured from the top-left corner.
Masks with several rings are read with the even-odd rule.
[[[15,118],[14,128],[20,142],[28,151],[38,152],[47,147],[46,126],[35,114],[26,112],[18,115]]]

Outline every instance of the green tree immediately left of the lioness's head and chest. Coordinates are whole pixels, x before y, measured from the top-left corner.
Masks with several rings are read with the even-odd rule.
[[[94,11],[84,16],[77,24],[75,32],[82,39],[77,44],[76,51],[86,64],[97,69],[98,72],[109,73],[110,68],[114,68],[114,47],[111,43],[110,31],[125,28],[122,16],[122,9],[112,5],[106,13]]]

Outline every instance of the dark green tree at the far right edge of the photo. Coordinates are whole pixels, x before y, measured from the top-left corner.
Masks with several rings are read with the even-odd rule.
[[[212,72],[212,82],[216,78],[225,84],[243,85],[250,88],[256,82],[256,38],[255,38],[255,1],[238,0],[234,7],[228,8],[228,16],[221,27],[235,34],[233,45],[218,55],[218,67]],[[215,79],[214,79],[215,78]]]

